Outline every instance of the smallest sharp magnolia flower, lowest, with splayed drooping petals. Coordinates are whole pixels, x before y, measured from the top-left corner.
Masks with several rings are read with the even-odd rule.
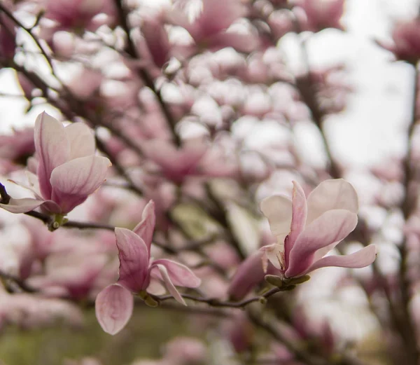
[[[151,243],[155,229],[154,203],[148,202],[143,220],[134,231],[116,228],[120,277],[116,284],[103,289],[97,296],[95,311],[105,332],[115,335],[132,315],[133,296],[139,294],[146,303],[156,305],[148,291],[155,291],[160,282],[165,284],[176,301],[186,305],[175,285],[196,288],[201,280],[186,266],[167,259],[151,259]]]

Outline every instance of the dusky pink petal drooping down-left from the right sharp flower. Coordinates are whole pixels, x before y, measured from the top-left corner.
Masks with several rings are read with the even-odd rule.
[[[262,282],[265,275],[262,270],[263,254],[261,251],[255,252],[241,263],[229,285],[228,294],[232,299],[241,300],[253,287]]]

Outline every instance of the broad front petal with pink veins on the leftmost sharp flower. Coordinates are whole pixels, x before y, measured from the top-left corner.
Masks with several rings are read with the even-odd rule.
[[[80,157],[64,163],[52,171],[50,182],[53,192],[90,195],[105,181],[110,166],[110,160],[102,156]]]

